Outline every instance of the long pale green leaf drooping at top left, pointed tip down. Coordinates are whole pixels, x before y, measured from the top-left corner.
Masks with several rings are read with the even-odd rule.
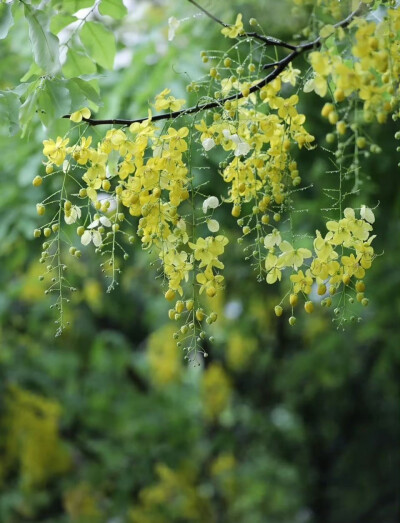
[[[46,73],[54,74],[60,69],[58,38],[47,30],[48,19],[43,11],[28,4],[24,7],[35,62]]]

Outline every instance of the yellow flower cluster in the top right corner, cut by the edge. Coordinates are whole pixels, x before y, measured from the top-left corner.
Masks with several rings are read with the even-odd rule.
[[[329,85],[334,86],[337,104],[356,96],[363,101],[366,122],[375,119],[385,123],[399,102],[400,11],[388,9],[379,23],[355,18],[350,29],[350,36],[332,25],[321,29],[321,34],[328,40],[321,51],[309,55],[314,77],[306,82],[304,90],[314,90],[324,97]],[[348,38],[353,39],[350,56],[342,52],[343,46],[348,47]],[[330,111],[327,117],[334,124],[339,119],[336,110]]]

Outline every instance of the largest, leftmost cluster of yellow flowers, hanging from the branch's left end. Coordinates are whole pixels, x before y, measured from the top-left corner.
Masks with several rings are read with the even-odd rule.
[[[176,100],[169,93],[165,89],[158,95],[156,105],[176,110],[182,100]],[[86,108],[79,110],[71,115],[71,119],[88,118],[88,111]],[[207,319],[208,323],[212,323],[216,319],[212,311],[209,315],[203,312],[198,300],[203,292],[212,298],[224,287],[224,277],[220,273],[224,265],[220,257],[228,239],[222,234],[200,236],[193,223],[187,223],[180,212],[184,202],[192,205],[191,201],[188,202],[190,195],[196,195],[185,159],[188,139],[188,127],[170,125],[166,129],[157,126],[149,112],[147,120],[133,123],[128,129],[110,129],[97,144],[93,143],[91,136],[81,136],[74,145],[70,145],[69,138],[45,140],[43,152],[47,157],[47,175],[54,176],[57,172],[64,176],[60,192],[62,204],[49,226],[36,230],[35,236],[43,232],[45,237],[50,238],[54,233],[52,239],[44,244],[41,260],[43,263],[52,262],[48,266],[48,271],[52,272],[62,264],[59,254],[52,253],[53,246],[58,246],[58,231],[62,222],[67,225],[83,222],[76,229],[80,243],[83,246],[93,243],[100,252],[110,253],[104,270],[111,266],[114,285],[114,273],[118,272],[115,249],[120,246],[125,252],[120,241],[124,236],[134,241],[134,236],[128,235],[123,226],[131,227],[129,216],[136,218],[136,233],[143,249],[156,255],[161,263],[166,299],[176,301],[179,298],[169,316],[178,320],[184,311],[187,313],[180,334],[181,338],[188,339],[187,350],[191,351],[197,347],[199,334],[204,336],[202,321]],[[79,186],[79,191],[68,198],[65,188],[67,178],[72,178]],[[41,183],[41,177],[35,178],[34,185]],[[71,201],[73,197],[74,201]],[[38,204],[38,214],[43,215],[50,203]],[[203,202],[203,213],[209,217],[206,221],[208,232],[219,230],[218,221],[210,218],[210,213],[218,205],[216,197],[209,197]],[[74,246],[71,246],[70,253],[78,257],[81,255],[81,251]],[[50,290],[58,289],[64,280],[63,277],[53,279],[54,285]],[[195,288],[188,284],[185,291],[185,284],[190,280]],[[182,301],[180,298],[188,292],[190,299]],[[61,309],[62,304],[58,305]],[[183,335],[186,334],[185,338]]]

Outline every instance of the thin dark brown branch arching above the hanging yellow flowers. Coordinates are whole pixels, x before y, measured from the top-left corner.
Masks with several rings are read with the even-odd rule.
[[[195,0],[189,0],[189,2],[196,4]],[[338,27],[346,27],[350,24],[352,19],[357,16],[357,14],[360,12],[362,7],[362,4],[360,4],[355,11],[349,14],[348,17],[346,17],[341,22],[338,22],[334,25],[335,28]],[[217,19],[218,21],[218,19]],[[223,22],[219,22],[222,23]],[[269,73],[263,80],[258,82],[256,85],[253,85],[250,88],[250,93],[255,93],[262,89],[265,85],[268,85],[271,83],[275,78],[299,55],[304,53],[305,51],[309,51],[311,49],[316,49],[318,47],[321,47],[322,45],[322,38],[319,36],[315,40],[312,40],[311,42],[306,42],[304,44],[300,44],[297,47],[294,48],[294,50],[288,54],[285,58],[282,58],[282,60],[279,60],[278,62],[274,62],[273,64],[267,64],[265,66],[265,69],[270,67],[276,67],[271,73]],[[231,100],[240,100],[241,98],[244,98],[244,95],[242,93],[236,93],[231,96],[227,96],[225,98],[222,98],[221,100],[213,100],[212,102],[208,102],[205,104],[197,104],[193,107],[189,107],[188,109],[181,109],[180,111],[173,111],[171,113],[164,113],[164,114],[157,114],[152,117],[153,122],[157,122],[160,120],[172,120],[175,118],[179,118],[180,116],[186,116],[187,114],[193,114],[198,113],[200,111],[207,111],[209,109],[214,109],[216,107],[221,107],[225,102],[231,101]],[[63,118],[69,118],[70,115],[66,114],[63,116]],[[83,118],[82,121],[88,123],[89,125],[95,126],[95,125],[123,125],[128,126],[133,123],[141,123],[148,119],[148,116],[144,118],[136,118],[134,120],[125,120],[125,119],[119,119],[114,118],[112,120],[94,120],[93,118]]]

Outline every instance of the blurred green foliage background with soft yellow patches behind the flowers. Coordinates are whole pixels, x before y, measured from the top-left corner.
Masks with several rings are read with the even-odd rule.
[[[289,2],[221,4],[205,3],[226,21],[239,11],[255,16],[281,38],[306,24],[305,14],[290,18]],[[200,51],[227,45],[189,4],[129,5],[123,22],[110,21],[120,52],[116,70],[100,77],[98,117],[142,116],[164,87],[184,96],[210,67]],[[188,17],[173,42],[170,16]],[[13,31],[0,47],[2,89],[31,60],[26,28]],[[320,106],[308,95],[301,108],[325,145]],[[68,126],[37,123],[21,139],[0,122],[0,521],[399,521],[398,124],[369,129],[382,153],[363,164],[360,202],[379,203],[374,245],[382,256],[367,276],[362,321],[342,332],[319,308],[294,328],[287,315],[276,318],[281,293],[256,282],[227,207],[227,287],[216,342],[196,368],[172,340],[168,306],[138,247],[111,294],[91,249],[70,264],[78,288],[71,327],[54,337],[52,301],[38,279],[41,241],[32,239],[40,196],[31,181],[43,170],[41,141]],[[307,212],[298,222],[313,230],[327,206],[328,155],[302,153],[299,169],[314,188],[299,197]]]

